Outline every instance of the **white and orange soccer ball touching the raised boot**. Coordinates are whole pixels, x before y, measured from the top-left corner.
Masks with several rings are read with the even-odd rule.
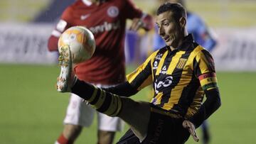
[[[70,46],[74,64],[90,59],[95,52],[95,38],[92,32],[83,26],[73,26],[64,31],[58,40],[58,50],[64,45]]]

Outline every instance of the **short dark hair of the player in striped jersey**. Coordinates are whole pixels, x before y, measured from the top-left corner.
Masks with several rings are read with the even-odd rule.
[[[159,6],[159,9],[157,9],[156,15],[159,16],[159,14],[164,13],[166,11],[171,11],[176,21],[178,21],[181,17],[186,18],[186,9],[179,3],[170,3],[166,2]]]

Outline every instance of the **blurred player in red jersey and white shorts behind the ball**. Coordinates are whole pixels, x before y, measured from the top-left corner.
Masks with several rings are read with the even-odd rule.
[[[130,0],[78,0],[68,6],[48,40],[48,50],[58,50],[58,38],[71,26],[85,26],[95,35],[96,50],[92,58],[75,65],[79,79],[110,87],[125,81],[124,33],[127,19],[132,19],[131,29],[146,31],[153,28],[151,16],[137,9]],[[64,130],[56,144],[74,143],[82,127],[90,126],[95,110],[71,93],[64,119]],[[98,142],[112,143],[115,131],[122,129],[122,121],[97,113]]]

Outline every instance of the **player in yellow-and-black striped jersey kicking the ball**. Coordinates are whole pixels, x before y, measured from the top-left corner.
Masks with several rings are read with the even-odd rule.
[[[159,35],[166,46],[153,52],[127,82],[101,89],[70,77],[70,49],[60,52],[61,92],[73,92],[89,101],[94,109],[118,116],[131,130],[124,143],[186,143],[189,135],[198,141],[196,128],[220,107],[220,93],[213,57],[186,31],[186,10],[181,4],[165,3],[157,10]],[[127,98],[151,85],[150,102]],[[206,96],[206,100],[203,98]]]

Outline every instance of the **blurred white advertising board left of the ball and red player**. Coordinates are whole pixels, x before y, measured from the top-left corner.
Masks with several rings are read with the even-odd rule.
[[[0,62],[18,64],[53,64],[58,53],[48,52],[47,40],[52,25],[0,24]]]

